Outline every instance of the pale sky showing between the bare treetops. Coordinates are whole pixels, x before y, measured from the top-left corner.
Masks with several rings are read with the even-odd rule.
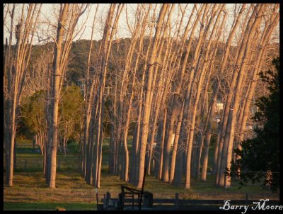
[[[22,9],[22,5],[23,4],[17,4],[16,6],[16,14],[18,15],[16,17],[16,20],[19,20],[19,16],[20,16],[20,12]],[[234,4],[226,4],[226,9],[229,11],[229,17],[227,19],[227,24],[226,24],[226,30],[229,30],[229,27],[231,27],[231,24],[233,22],[233,5]],[[12,6],[11,4],[9,5],[10,7]],[[96,11],[96,6],[98,6],[98,15],[96,18],[96,24],[95,24],[95,30],[94,30],[94,36],[93,39],[94,40],[100,40],[102,38],[102,34],[103,34],[103,21],[105,21],[105,17],[107,15],[108,9],[110,4],[90,4],[90,6],[88,7],[88,9],[86,10],[85,13],[83,13],[83,15],[81,16],[81,18],[79,19],[79,23],[78,23],[78,28],[80,26],[84,26],[81,29],[81,32],[79,33],[78,36],[76,36],[76,38],[74,38],[74,41],[78,40],[78,39],[86,39],[86,40],[90,40],[91,39],[91,27],[92,27],[92,23],[93,23],[93,16],[95,14]],[[184,7],[185,4],[182,4],[182,6]],[[184,18],[184,23],[186,23],[185,21],[188,20],[189,16],[190,16],[190,11],[192,11],[192,6],[193,4],[188,4],[187,9],[185,11],[185,18]],[[127,27],[127,22],[126,22],[126,11],[128,13],[129,16],[129,22],[133,22],[134,21],[134,11],[137,8],[137,4],[125,4],[124,10],[121,13],[120,16],[120,21],[119,21],[119,26],[118,26],[118,30],[117,30],[117,38],[129,38],[130,37],[130,32],[129,29]],[[58,9],[58,4],[42,4],[42,10],[41,10],[41,14],[40,14],[40,29],[39,29],[39,33],[42,33],[42,37],[47,38],[47,36],[49,35],[54,35],[54,28],[49,28],[50,30],[48,30],[47,32],[47,25],[45,23],[51,22],[54,24],[54,26],[57,25],[57,21],[56,21],[56,9]],[[158,5],[158,9],[160,9],[160,5]],[[177,16],[178,16],[178,4],[175,4],[175,9],[174,9],[174,13],[172,16],[173,19],[173,23],[174,21],[178,21],[177,20]],[[5,12],[6,10],[4,9],[4,17],[5,17]],[[158,14],[158,13],[157,13]],[[6,16],[6,23],[10,23],[8,16]],[[8,26],[6,26],[6,24],[4,23],[4,43],[5,43],[5,39],[8,38],[8,30],[7,30]],[[44,33],[43,33],[44,32]],[[278,25],[278,32],[279,32],[279,25]],[[47,35],[48,34],[48,35]],[[13,44],[16,43],[15,38],[13,38]],[[38,38],[36,38],[33,40],[34,44],[38,43]]]

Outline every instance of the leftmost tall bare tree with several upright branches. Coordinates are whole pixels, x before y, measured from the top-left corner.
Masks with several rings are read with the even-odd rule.
[[[25,74],[30,62],[32,50],[33,35],[37,26],[38,17],[42,4],[29,4],[25,15],[25,4],[21,9],[21,18],[15,25],[16,4],[10,11],[7,7],[11,18],[9,26],[9,42],[6,40],[5,56],[5,77],[7,78],[6,93],[4,94],[4,105],[6,106],[5,118],[5,142],[6,142],[6,182],[8,186],[13,186],[13,159],[14,146],[16,139],[17,117],[19,105],[21,103],[21,94],[25,81]],[[14,33],[14,28],[15,33]],[[15,48],[12,47],[13,35],[16,37]]]

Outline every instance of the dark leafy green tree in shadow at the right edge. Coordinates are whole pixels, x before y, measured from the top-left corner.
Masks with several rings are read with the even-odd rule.
[[[262,182],[276,192],[279,188],[279,58],[272,64],[275,72],[260,73],[262,81],[269,84],[270,95],[259,98],[256,103],[259,111],[253,117],[263,128],[255,128],[257,136],[241,142],[242,150],[235,150],[241,159],[232,163],[232,171],[240,167],[242,186],[248,181]],[[271,171],[271,176],[267,176],[266,171]]]

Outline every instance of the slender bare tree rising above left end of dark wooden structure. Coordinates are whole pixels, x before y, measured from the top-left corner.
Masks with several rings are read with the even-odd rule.
[[[108,62],[110,56],[110,50],[112,47],[112,38],[114,37],[117,30],[117,23],[119,21],[120,13],[123,9],[123,4],[111,4],[110,9],[108,11],[108,16],[105,21],[105,28],[103,32],[103,40],[100,46],[100,58],[98,64],[99,77],[98,81],[98,91],[96,97],[93,99],[93,113],[91,116],[91,122],[93,123],[93,128],[90,128],[88,136],[91,136],[88,144],[93,145],[92,149],[88,152],[89,164],[86,167],[86,176],[88,176],[88,184],[91,183],[89,175],[93,178],[92,184],[93,186],[100,187],[100,169],[102,162],[102,141],[103,141],[103,114],[104,114],[104,90],[105,90],[105,81],[106,74],[108,71]],[[93,131],[96,130],[96,136],[93,137]],[[93,154],[93,156],[92,156]],[[93,164],[93,169],[91,169],[91,165]],[[92,173],[91,173],[92,171]]]

